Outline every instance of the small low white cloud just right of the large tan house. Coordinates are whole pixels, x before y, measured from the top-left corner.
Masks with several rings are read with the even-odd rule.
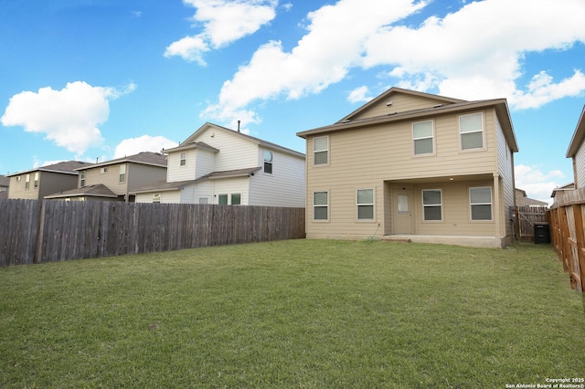
[[[557,186],[567,184],[567,178],[559,170],[542,172],[537,166],[516,165],[514,169],[516,188],[522,189],[527,196],[536,200],[552,202],[550,195]]]

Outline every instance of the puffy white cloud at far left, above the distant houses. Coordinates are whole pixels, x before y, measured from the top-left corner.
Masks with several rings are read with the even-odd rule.
[[[23,126],[25,131],[44,133],[58,146],[82,154],[103,142],[98,125],[108,120],[109,100],[135,88],[132,83],[114,89],[76,81],[61,90],[47,87],[38,92],[23,91],[10,99],[0,121],[5,126]]]

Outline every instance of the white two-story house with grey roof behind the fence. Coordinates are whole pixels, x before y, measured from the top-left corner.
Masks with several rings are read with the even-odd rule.
[[[206,123],[168,155],[166,180],[137,202],[304,206],[304,154]]]

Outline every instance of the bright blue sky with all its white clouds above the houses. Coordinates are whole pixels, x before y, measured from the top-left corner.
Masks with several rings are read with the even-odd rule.
[[[0,173],[158,152],[206,121],[304,152],[393,86],[506,98],[548,200],[585,104],[582,0],[0,0]]]

